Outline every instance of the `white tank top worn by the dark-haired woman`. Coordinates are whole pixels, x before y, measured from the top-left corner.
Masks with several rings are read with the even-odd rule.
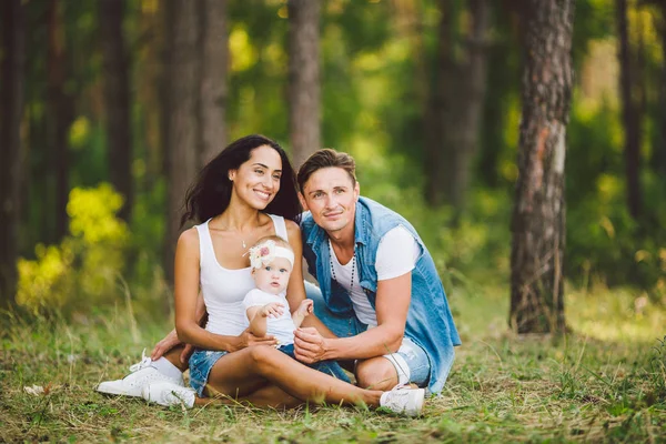
[[[275,234],[287,240],[284,218],[269,214]],[[243,307],[245,294],[254,289],[250,266],[229,270],[220,265],[213,250],[209,222],[196,225],[199,232],[200,285],[209,319],[205,330],[211,333],[238,336],[249,325]]]

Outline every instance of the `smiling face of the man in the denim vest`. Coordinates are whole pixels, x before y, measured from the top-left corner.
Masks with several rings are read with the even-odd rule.
[[[359,182],[342,168],[322,168],[315,171],[303,186],[303,206],[312,213],[314,222],[329,233],[354,224]]]

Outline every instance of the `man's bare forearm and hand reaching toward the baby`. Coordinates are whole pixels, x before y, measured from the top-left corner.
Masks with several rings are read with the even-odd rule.
[[[299,329],[294,339],[296,359],[313,363],[323,360],[369,359],[396,352],[405,332],[411,299],[411,271],[380,281],[375,302],[376,327],[356,336],[337,339],[324,337],[312,327]],[[307,316],[306,321],[310,317],[315,316]]]

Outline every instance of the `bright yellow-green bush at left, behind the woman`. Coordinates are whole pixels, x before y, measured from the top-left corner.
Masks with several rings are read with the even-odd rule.
[[[118,297],[129,231],[115,218],[122,198],[108,184],[73,189],[69,231],[59,245],[36,248],[20,259],[17,302],[30,311],[89,311]]]

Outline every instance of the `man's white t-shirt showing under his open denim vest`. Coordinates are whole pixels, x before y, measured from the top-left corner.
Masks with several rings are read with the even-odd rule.
[[[359,266],[352,263],[356,260],[352,258],[350,262],[342,265],[333,253],[333,246],[329,240],[329,249],[331,251],[331,260],[333,271],[335,272],[335,281],[350,293],[354,312],[359,321],[367,324],[369,327],[377,325],[377,314],[370,304],[367,295],[360,285]],[[403,225],[398,225],[389,231],[380,241],[377,255],[375,261],[375,270],[377,271],[377,281],[386,281],[389,279],[402,276],[405,273],[414,270],[416,260],[421,254],[421,246],[414,236]],[[352,283],[352,268],[354,269],[354,287]]]

